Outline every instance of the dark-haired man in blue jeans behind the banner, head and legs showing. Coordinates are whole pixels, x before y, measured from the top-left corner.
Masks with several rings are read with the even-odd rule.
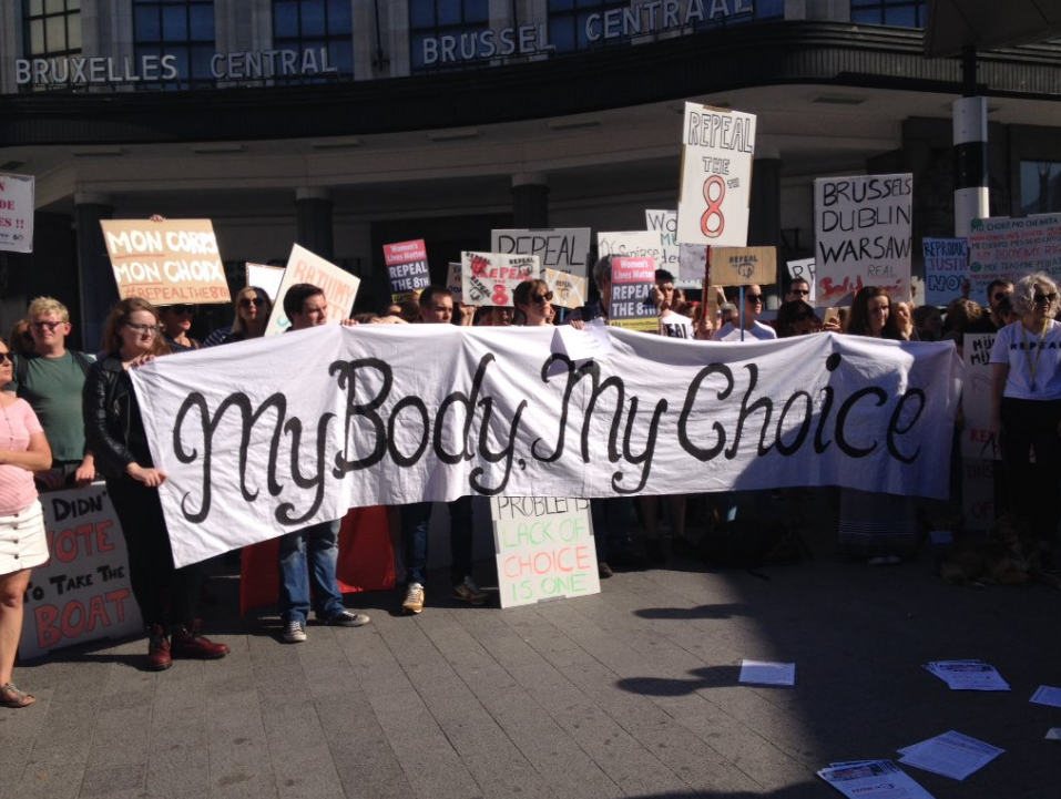
[[[292,321],[290,330],[305,330],[328,321],[328,300],[317,286],[298,283],[284,296],[284,313]],[[364,613],[346,610],[335,578],[341,524],[343,521],[336,519],[280,536],[278,604],[284,641],[288,644],[306,639],[310,591],[314,614],[319,622],[338,627],[360,627],[369,622]]]

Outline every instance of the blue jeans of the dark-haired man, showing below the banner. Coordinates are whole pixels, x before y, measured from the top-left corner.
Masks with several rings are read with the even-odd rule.
[[[339,557],[341,519],[322,522],[280,536],[279,611],[284,622],[306,623],[310,590],[313,608],[319,621],[343,613],[343,595],[335,582],[335,564]],[[306,549],[309,550],[307,568]]]

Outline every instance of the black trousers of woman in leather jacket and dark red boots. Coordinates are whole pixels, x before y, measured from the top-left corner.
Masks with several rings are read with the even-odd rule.
[[[190,625],[198,598],[200,564],[173,567],[159,489],[149,489],[130,477],[106,481],[106,491],[122,524],[129,553],[129,581],[147,626],[166,633],[173,625]]]

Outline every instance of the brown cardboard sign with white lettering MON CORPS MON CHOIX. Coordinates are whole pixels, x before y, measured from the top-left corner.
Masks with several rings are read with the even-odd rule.
[[[228,303],[228,281],[210,219],[101,219],[122,299],[154,305]]]

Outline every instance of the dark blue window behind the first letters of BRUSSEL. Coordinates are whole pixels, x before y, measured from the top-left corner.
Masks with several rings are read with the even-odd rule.
[[[486,0],[409,0],[414,72],[459,70],[482,63],[480,34],[490,27]],[[443,42],[451,44],[443,57]],[[498,43],[494,42],[494,45]],[[443,61],[445,58],[445,61]]]

